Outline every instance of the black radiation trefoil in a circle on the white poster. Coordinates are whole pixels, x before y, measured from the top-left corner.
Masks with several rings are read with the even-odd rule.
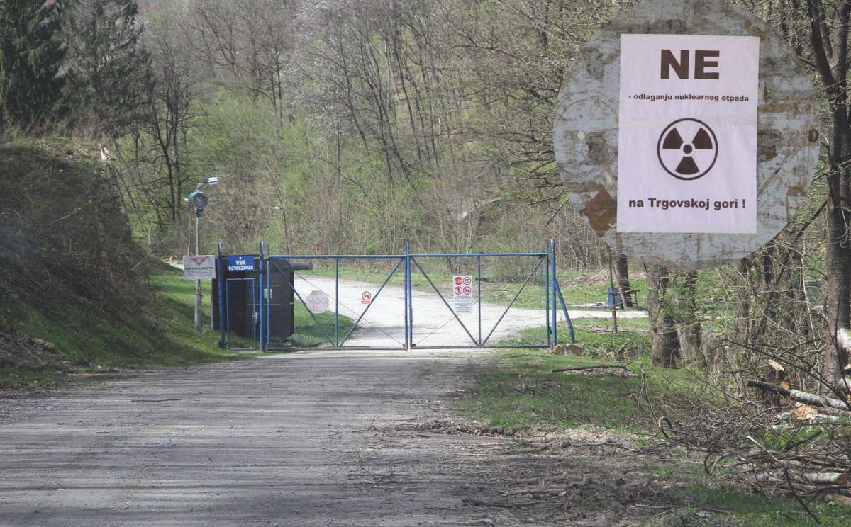
[[[715,132],[705,122],[685,118],[671,122],[656,147],[665,172],[690,181],[705,176],[718,158]]]

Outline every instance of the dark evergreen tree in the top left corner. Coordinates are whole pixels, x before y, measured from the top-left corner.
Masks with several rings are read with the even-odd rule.
[[[54,116],[65,82],[57,0],[0,0],[0,122]]]

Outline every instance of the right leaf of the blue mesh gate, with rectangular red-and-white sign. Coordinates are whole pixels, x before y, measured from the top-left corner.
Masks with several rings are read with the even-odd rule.
[[[545,253],[414,255],[410,265],[413,347],[548,345]]]

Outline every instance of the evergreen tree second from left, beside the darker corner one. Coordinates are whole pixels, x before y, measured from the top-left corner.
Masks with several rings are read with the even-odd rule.
[[[115,137],[142,119],[150,60],[135,0],[73,0],[66,94],[75,124]]]

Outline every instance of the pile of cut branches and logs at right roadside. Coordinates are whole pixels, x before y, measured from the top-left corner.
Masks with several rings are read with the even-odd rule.
[[[791,386],[789,369],[768,360],[759,379],[737,385],[696,374],[693,393],[677,400],[643,393],[639,403],[665,442],[698,453],[708,475],[766,495],[790,493],[809,513],[808,497],[851,503],[851,380],[814,394]]]

